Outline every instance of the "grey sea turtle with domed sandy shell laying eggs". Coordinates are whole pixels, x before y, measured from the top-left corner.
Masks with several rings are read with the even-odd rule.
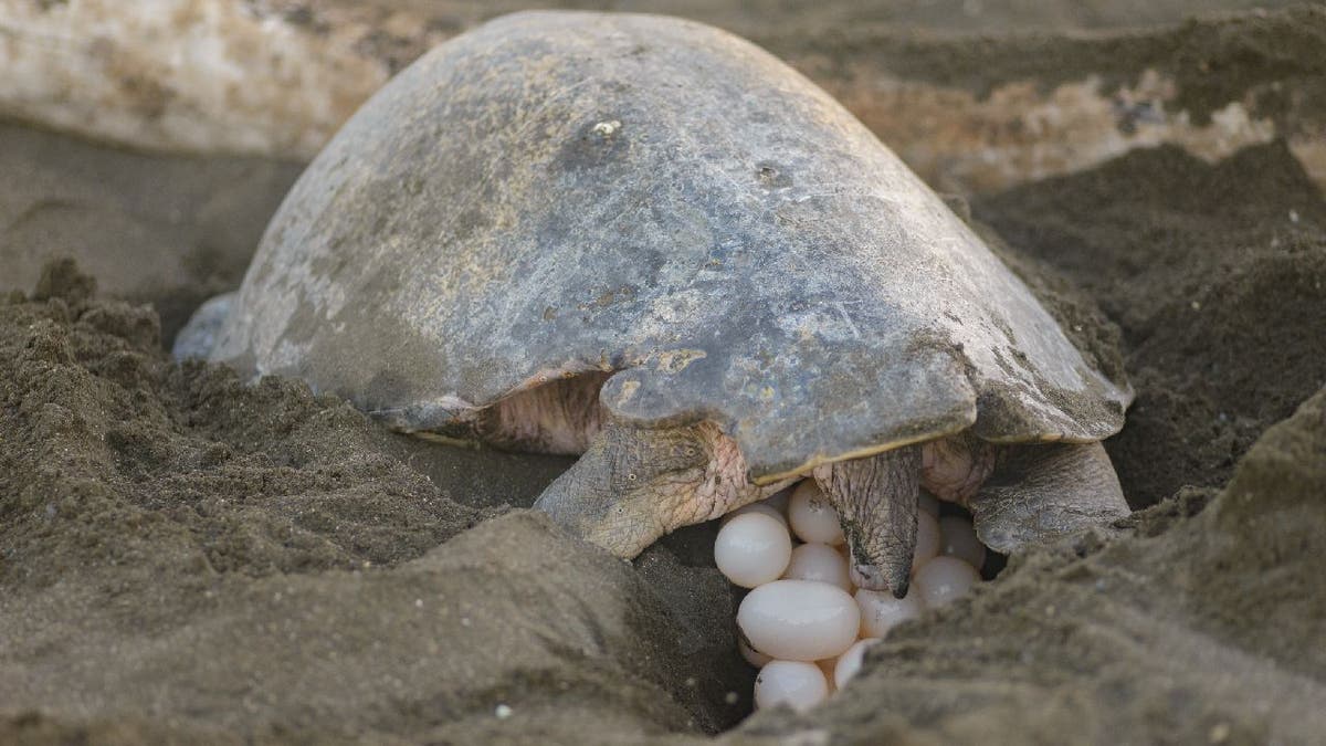
[[[1127,385],[823,90],[684,20],[518,13],[418,60],[290,191],[211,357],[583,454],[536,507],[623,558],[808,475],[899,595],[922,485],[1001,551],[1128,510]]]

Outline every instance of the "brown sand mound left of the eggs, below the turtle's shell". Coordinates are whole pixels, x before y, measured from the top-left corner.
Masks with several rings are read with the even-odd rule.
[[[528,459],[174,365],[150,308],[93,285],[58,263],[0,305],[11,735],[565,737],[587,718],[662,733],[744,711],[725,700],[748,689],[733,638],[712,631],[735,613],[717,571],[664,548],[634,571],[536,514],[471,507],[525,500],[548,469],[456,496],[419,465]]]

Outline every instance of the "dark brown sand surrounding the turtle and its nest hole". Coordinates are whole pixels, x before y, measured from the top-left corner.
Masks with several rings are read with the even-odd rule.
[[[566,459],[439,447],[298,382],[170,361],[187,299],[236,281],[296,166],[0,137],[28,165],[0,185],[0,246],[33,267],[0,303],[0,742],[1326,731],[1326,200],[1284,141],[971,196],[1061,317],[1118,345],[1138,401],[1107,447],[1142,511],[1013,556],[825,708],[743,719],[712,526],[626,564],[525,510]],[[174,211],[143,183],[178,185]],[[98,238],[122,259],[90,261]],[[172,248],[155,284],[122,271]],[[44,264],[62,255],[80,265]]]

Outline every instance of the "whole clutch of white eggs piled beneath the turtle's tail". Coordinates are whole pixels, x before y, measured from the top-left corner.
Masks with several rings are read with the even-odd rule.
[[[814,479],[732,511],[713,543],[728,580],[751,588],[737,609],[739,648],[758,666],[756,708],[806,710],[843,686],[898,623],[941,607],[980,580],[985,547],[969,518],[940,515],[922,494],[912,583],[903,599],[855,588],[838,512]]]

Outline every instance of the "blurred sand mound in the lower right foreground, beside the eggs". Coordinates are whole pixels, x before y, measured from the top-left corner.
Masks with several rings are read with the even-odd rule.
[[[1017,558],[867,653],[809,717],[747,735],[857,741],[910,723],[947,743],[1311,743],[1326,729],[1326,392],[1270,429],[1199,515],[1193,495]],[[827,741],[826,741],[827,742]]]

